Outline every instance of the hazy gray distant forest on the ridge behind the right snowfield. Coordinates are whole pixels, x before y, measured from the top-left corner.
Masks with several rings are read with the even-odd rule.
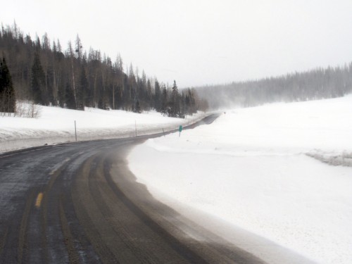
[[[196,87],[210,109],[329,99],[352,92],[352,63],[247,82]]]

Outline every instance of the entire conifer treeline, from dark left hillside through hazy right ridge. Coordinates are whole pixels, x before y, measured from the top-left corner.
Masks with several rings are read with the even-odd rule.
[[[65,48],[64,48],[65,46]],[[1,25],[0,112],[15,112],[16,100],[43,106],[84,110],[84,107],[155,110],[184,115],[263,103],[308,101],[352,92],[352,63],[315,68],[278,77],[178,89],[125,65],[120,54],[113,61],[101,51],[85,50],[80,37],[62,45],[48,34],[34,39],[18,25]]]

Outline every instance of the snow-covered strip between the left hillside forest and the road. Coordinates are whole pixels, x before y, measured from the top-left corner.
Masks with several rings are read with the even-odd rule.
[[[74,111],[58,107],[41,106],[39,118],[13,118],[0,116],[0,152],[23,149],[44,144],[58,144],[77,140],[134,137],[177,129],[199,120],[202,113],[186,119],[167,118],[156,112],[131,113],[86,108]]]

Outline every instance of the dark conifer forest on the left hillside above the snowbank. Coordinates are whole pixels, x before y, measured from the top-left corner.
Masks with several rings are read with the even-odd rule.
[[[206,108],[195,91],[181,91],[175,81],[166,87],[156,78],[146,77],[144,71],[140,74],[132,64],[124,69],[120,55],[112,61],[99,50],[84,51],[78,35],[75,43],[68,42],[63,49],[61,42],[51,42],[48,34],[32,39],[15,23],[1,25],[0,58],[5,63],[1,65],[8,68],[4,74],[11,75],[12,101],[15,96],[16,100],[77,110],[84,110],[84,106],[137,113],[154,109],[172,117]],[[0,72],[0,81],[4,74]],[[6,94],[0,97],[4,99]]]

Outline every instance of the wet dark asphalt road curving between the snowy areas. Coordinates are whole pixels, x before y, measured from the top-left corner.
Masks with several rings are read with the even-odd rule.
[[[135,182],[125,157],[149,137],[0,155],[0,263],[263,263]]]

